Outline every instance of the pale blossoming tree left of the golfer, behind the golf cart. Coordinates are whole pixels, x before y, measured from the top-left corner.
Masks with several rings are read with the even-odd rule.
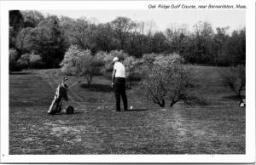
[[[104,71],[102,58],[97,55],[91,55],[90,50],[80,49],[77,46],[71,46],[67,50],[61,66],[61,71],[64,74],[86,78],[89,87],[91,87],[93,77]]]

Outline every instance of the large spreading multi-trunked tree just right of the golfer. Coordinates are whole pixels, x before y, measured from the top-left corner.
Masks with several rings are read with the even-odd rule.
[[[165,107],[167,101],[170,107],[180,100],[185,104],[203,103],[191,92],[189,69],[185,69],[182,63],[178,54],[158,56],[148,71],[148,77],[140,83],[141,94],[160,107]]]

